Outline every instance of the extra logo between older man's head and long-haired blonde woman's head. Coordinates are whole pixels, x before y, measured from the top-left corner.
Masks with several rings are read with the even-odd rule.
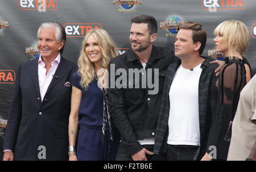
[[[86,33],[92,29],[101,28],[99,23],[65,23],[67,37],[85,37]]]

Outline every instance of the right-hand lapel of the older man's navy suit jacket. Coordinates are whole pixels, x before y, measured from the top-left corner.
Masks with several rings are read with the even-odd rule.
[[[63,77],[67,74],[68,70],[65,70],[65,68],[67,68],[67,67],[68,67],[68,65],[67,65],[67,63],[65,62],[65,59],[64,59],[63,57],[61,57],[59,66],[57,67],[56,72],[55,72],[55,74],[54,74],[55,76],[57,76],[57,78],[55,78],[55,77],[52,78],[52,81],[51,81],[51,83],[49,84],[49,87],[48,87],[48,89],[47,89],[47,91],[46,91],[46,95],[47,95],[47,93],[48,93],[49,91],[51,91],[51,89],[52,89],[57,83],[59,83],[59,81],[61,80],[61,78],[63,78]]]

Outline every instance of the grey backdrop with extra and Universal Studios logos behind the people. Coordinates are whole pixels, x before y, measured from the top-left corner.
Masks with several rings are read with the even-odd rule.
[[[36,31],[44,21],[58,21],[67,33],[63,56],[75,63],[81,42],[90,29],[103,28],[114,39],[119,54],[130,48],[130,18],[152,15],[158,21],[157,46],[174,48],[177,25],[203,24],[207,46],[203,55],[221,58],[214,51],[213,31],[224,20],[241,20],[250,32],[246,57],[256,72],[255,0],[0,0],[0,158],[11,93],[20,63],[38,58]]]

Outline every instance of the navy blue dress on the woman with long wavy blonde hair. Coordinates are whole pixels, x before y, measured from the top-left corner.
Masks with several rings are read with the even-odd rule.
[[[112,126],[114,141],[109,139],[109,126],[106,127],[105,135],[102,135],[104,94],[98,88],[96,79],[86,90],[81,87],[80,80],[81,76],[76,72],[71,85],[82,91],[77,134],[77,160],[115,160],[119,143],[117,130]]]

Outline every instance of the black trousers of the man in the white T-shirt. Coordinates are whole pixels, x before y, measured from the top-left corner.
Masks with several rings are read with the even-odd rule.
[[[167,144],[167,161],[194,161],[198,148],[192,145]]]

